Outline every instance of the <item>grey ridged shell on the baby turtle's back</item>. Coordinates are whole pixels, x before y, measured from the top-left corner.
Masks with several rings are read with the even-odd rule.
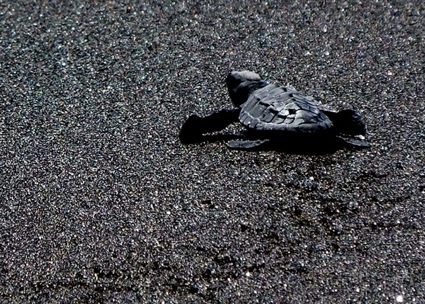
[[[252,92],[241,105],[239,120],[256,130],[315,133],[332,126],[311,97],[281,83]]]

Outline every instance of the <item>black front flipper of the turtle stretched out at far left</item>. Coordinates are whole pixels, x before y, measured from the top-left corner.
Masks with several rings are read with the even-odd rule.
[[[240,109],[221,109],[208,116],[190,115],[183,123],[178,137],[183,143],[196,142],[204,133],[220,131],[237,121]]]

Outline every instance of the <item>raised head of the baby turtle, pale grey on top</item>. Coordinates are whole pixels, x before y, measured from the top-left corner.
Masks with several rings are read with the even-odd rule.
[[[236,106],[245,102],[254,90],[267,84],[257,73],[250,70],[231,71],[226,78],[230,99]]]

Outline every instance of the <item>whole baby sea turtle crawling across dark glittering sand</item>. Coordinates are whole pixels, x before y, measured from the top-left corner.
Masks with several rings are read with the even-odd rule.
[[[370,146],[364,141],[366,127],[353,109],[324,109],[313,98],[248,70],[230,72],[226,85],[235,108],[204,117],[190,115],[181,127],[181,142],[198,142],[204,134],[239,121],[246,131],[226,142],[230,148]]]

